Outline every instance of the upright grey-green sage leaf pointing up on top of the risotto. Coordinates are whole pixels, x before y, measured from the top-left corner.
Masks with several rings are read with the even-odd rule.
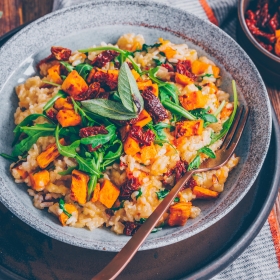
[[[133,113],[139,113],[142,111],[144,108],[144,100],[126,62],[122,64],[119,72],[118,92],[122,104],[127,110]]]

